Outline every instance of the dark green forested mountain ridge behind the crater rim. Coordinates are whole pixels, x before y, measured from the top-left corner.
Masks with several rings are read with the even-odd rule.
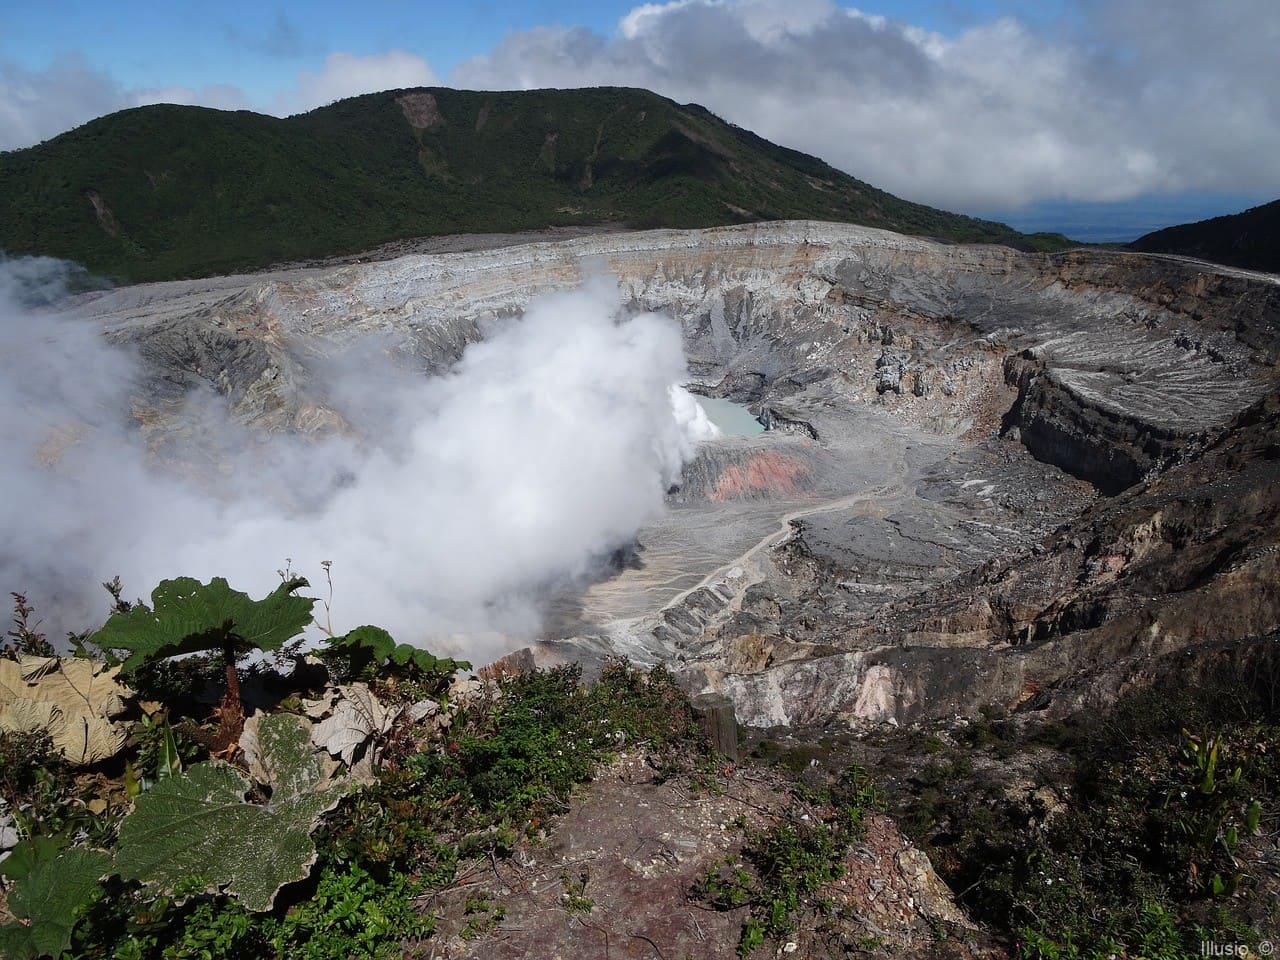
[[[643,90],[388,91],[287,119],[143,106],[0,154],[0,250],[120,280],[452,233],[836,220],[1053,248]]]

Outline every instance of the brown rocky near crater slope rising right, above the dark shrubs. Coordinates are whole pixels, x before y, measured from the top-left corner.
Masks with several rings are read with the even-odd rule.
[[[722,655],[699,668],[748,723],[904,723],[986,705],[1070,716],[1143,678],[1185,682],[1224,655],[1274,657],[1277,431],[1272,394],[1193,462],[1097,502],[1029,552],[882,604],[856,632],[820,620],[813,640],[842,652],[737,672],[722,671]],[[803,536],[791,549],[812,554]],[[781,605],[771,613],[754,628],[794,632]]]

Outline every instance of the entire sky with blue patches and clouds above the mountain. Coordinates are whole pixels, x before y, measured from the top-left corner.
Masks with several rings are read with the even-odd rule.
[[[0,0],[0,148],[157,101],[621,83],[913,200],[1124,239],[1280,196],[1277,46],[1275,0]]]

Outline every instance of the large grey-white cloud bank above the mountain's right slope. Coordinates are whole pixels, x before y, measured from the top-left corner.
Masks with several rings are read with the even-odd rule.
[[[637,6],[611,37],[509,35],[452,81],[648,87],[961,210],[1280,191],[1280,8],[1087,0],[1080,12],[1076,33],[1000,19],[943,36],[829,0],[676,0]]]

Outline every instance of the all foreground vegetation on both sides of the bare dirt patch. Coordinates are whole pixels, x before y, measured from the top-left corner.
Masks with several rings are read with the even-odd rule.
[[[166,584],[154,596],[180,581]],[[224,588],[182,593],[214,602]],[[111,593],[115,616],[146,609],[123,603],[118,585]],[[14,698],[10,687],[10,707],[54,676],[31,608],[14,599],[0,664],[20,667],[31,689]],[[279,599],[242,607],[228,630],[243,636]],[[119,643],[124,621],[147,620],[124,616],[95,637]],[[1065,723],[988,709],[936,732],[764,740],[760,755],[796,774],[788,813],[763,829],[736,822],[745,845],[690,896],[742,910],[741,955],[774,952],[806,914],[841,915],[829,884],[864,841],[867,815],[887,806],[969,914],[1020,960],[1179,960],[1206,942],[1258,954],[1280,922],[1275,639],[1257,658],[1222,659],[1193,682],[1135,687],[1112,709]],[[453,662],[398,663],[375,627],[325,648],[323,669],[291,655],[241,671],[270,707],[220,758],[210,751],[227,719],[210,717],[220,654],[145,655],[131,675],[137,689],[122,695],[128,741],[105,762],[73,763],[38,728],[0,728],[0,831],[5,846],[20,838],[0,863],[0,956],[416,956],[444,915],[442,891],[475,886],[463,938],[502,920],[499,896],[467,881],[475,865],[497,872],[616,753],[645,750],[659,776],[708,790],[727,776],[662,667],[611,662],[594,685],[576,667],[452,682]],[[276,672],[288,663],[298,668]],[[353,669],[364,680],[347,686]],[[428,696],[434,712],[402,713]],[[367,726],[349,709],[328,714],[335,701]],[[325,758],[340,746],[326,726],[357,732],[361,759]],[[841,755],[840,737],[879,751],[879,785]],[[810,769],[819,759],[833,776]],[[566,914],[589,914],[585,868],[562,882]],[[874,940],[858,950],[883,955]]]

